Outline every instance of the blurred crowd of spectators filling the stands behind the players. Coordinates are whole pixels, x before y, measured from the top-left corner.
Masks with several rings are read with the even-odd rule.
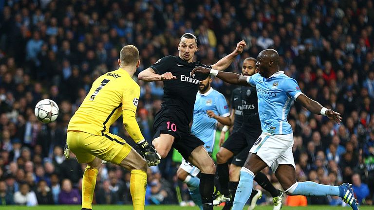
[[[177,55],[179,37],[189,32],[198,38],[195,59],[207,65],[246,41],[227,71],[239,73],[244,58],[277,50],[281,70],[343,117],[338,125],[292,107],[298,180],[350,182],[360,204],[373,205],[373,26],[373,0],[0,0],[0,204],[80,204],[85,166],[74,156],[65,159],[62,148],[67,124],[92,82],[118,68],[124,45],[139,49],[138,73]],[[137,119],[151,141],[163,83],[137,82]],[[213,88],[228,99],[236,87],[216,78]],[[34,116],[44,98],[59,105],[54,123]],[[110,132],[131,142],[121,119]],[[189,200],[175,177],[177,166],[170,154],[149,169],[147,204]],[[127,171],[103,165],[94,203],[131,204],[129,180]],[[342,202],[328,196],[307,198],[307,204]]]

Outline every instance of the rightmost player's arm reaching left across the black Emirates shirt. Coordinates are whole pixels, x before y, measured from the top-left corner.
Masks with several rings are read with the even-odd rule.
[[[247,83],[247,76],[242,76],[240,74],[231,73],[231,72],[223,72],[214,69],[208,69],[205,67],[196,67],[191,71],[191,76],[195,73],[203,73],[203,74],[210,74],[214,75],[220,79],[222,79],[226,83],[240,85],[240,86],[250,86]]]

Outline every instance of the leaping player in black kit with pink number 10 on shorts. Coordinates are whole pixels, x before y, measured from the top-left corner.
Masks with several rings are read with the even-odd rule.
[[[198,66],[225,70],[235,56],[243,52],[245,46],[244,41],[239,42],[232,53],[217,63],[206,66],[198,61],[192,62],[198,51],[197,38],[187,33],[179,39],[179,56],[163,57],[138,75],[138,79],[145,82],[164,81],[164,97],[161,109],[154,119],[155,136],[152,144],[162,158],[174,147],[188,162],[200,169],[199,190],[204,210],[213,210],[216,167],[204,148],[204,142],[191,133],[189,123],[200,80],[205,80],[208,75],[190,76],[190,72]]]

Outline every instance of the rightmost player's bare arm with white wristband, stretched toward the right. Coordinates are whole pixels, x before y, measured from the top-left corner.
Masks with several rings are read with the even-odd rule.
[[[313,112],[314,114],[319,114],[319,115],[324,115],[327,116],[330,120],[333,120],[340,124],[342,118],[340,117],[340,114],[323,107],[320,105],[318,102],[310,99],[308,96],[304,94],[300,94],[297,98],[296,101],[303,105],[305,108],[307,108],[309,111]]]

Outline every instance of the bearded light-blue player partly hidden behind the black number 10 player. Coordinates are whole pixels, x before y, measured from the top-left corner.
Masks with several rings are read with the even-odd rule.
[[[196,101],[193,107],[193,120],[191,132],[200,140],[208,153],[212,153],[216,139],[217,123],[231,125],[230,112],[224,95],[210,87],[212,78],[200,81],[199,92],[196,94]],[[200,209],[203,209],[201,195],[199,192],[200,179],[196,176],[200,170],[182,160],[177,171],[178,178],[188,186],[192,200]]]

